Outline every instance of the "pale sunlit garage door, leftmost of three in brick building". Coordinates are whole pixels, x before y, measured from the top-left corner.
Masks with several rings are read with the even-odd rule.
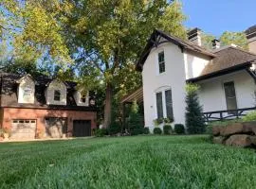
[[[14,119],[11,122],[10,139],[34,139],[36,120]]]

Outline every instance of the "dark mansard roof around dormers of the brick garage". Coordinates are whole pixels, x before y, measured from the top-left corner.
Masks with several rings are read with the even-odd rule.
[[[67,85],[66,105],[46,105],[46,84],[52,79],[46,76],[36,77],[35,81],[35,102],[34,104],[20,104],[18,103],[18,83],[16,82],[23,76],[0,73],[1,77],[1,107],[15,107],[15,108],[38,108],[38,109],[64,109],[76,111],[94,111],[92,107],[77,106],[73,96],[76,91],[76,82],[65,81]]]

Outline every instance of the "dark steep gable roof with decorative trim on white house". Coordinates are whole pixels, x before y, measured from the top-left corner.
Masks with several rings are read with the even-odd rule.
[[[159,42],[161,37],[164,38],[166,41]],[[142,66],[143,66],[145,60],[147,60],[147,57],[149,56],[150,51],[152,50],[152,48],[156,47],[160,43],[174,43],[180,47],[181,51],[183,51],[184,49],[189,49],[189,50],[192,50],[199,54],[203,54],[203,55],[206,55],[206,56],[209,56],[212,58],[215,57],[215,55],[212,52],[210,52],[208,49],[206,49],[202,46],[199,46],[199,45],[192,43],[188,40],[182,40],[180,38],[169,35],[161,30],[155,29],[154,32],[152,33],[150,39],[148,40],[148,43],[146,44],[146,46],[142,52],[142,55],[140,56],[139,60],[137,61],[137,71],[142,71]]]

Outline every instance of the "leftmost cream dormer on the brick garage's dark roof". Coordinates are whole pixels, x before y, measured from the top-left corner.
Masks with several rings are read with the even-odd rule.
[[[31,93],[29,95],[24,95],[24,91],[28,90]],[[19,87],[18,87],[18,103],[27,103],[33,104],[35,101],[35,82],[31,77],[22,77],[19,80]]]

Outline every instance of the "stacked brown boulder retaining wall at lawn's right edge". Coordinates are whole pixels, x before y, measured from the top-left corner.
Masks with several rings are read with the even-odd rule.
[[[227,146],[255,147],[256,122],[232,123],[212,127],[213,143]]]

